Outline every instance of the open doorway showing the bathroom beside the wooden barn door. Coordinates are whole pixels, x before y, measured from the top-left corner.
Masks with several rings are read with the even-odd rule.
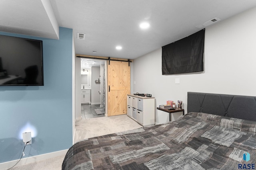
[[[105,61],[81,58],[81,117],[106,116]]]

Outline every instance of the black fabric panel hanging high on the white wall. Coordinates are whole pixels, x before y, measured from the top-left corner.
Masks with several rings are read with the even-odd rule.
[[[204,32],[202,29],[162,47],[162,75],[204,70]]]

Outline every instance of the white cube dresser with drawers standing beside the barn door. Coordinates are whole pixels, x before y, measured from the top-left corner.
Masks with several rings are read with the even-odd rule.
[[[127,95],[127,115],[142,126],[155,124],[155,98]]]

